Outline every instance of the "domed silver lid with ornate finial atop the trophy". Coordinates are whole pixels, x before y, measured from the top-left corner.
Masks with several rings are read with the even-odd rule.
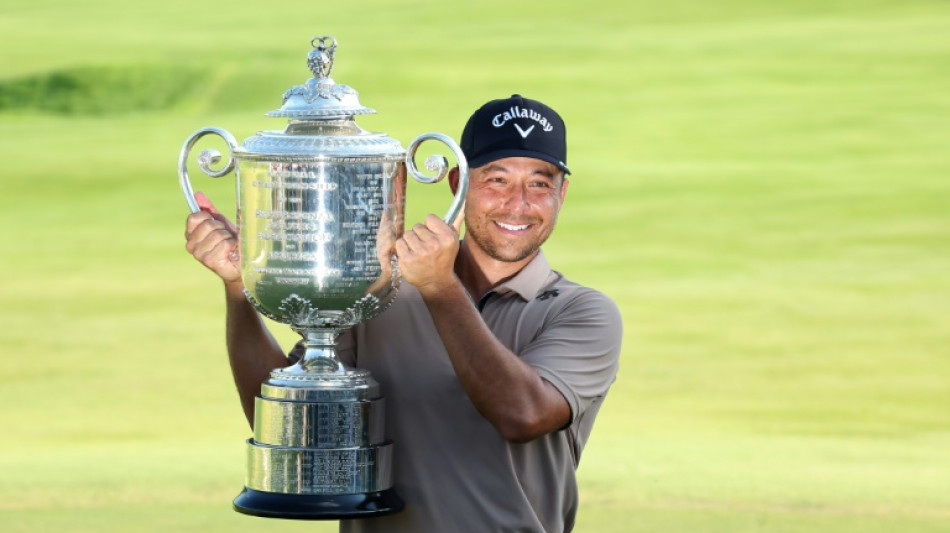
[[[307,54],[313,78],[284,93],[283,105],[267,113],[286,117],[284,131],[262,131],[244,141],[236,152],[252,160],[401,160],[405,150],[399,141],[383,133],[367,132],[356,125],[355,115],[376,113],[360,104],[359,93],[330,78],[337,41],[314,37]]]

